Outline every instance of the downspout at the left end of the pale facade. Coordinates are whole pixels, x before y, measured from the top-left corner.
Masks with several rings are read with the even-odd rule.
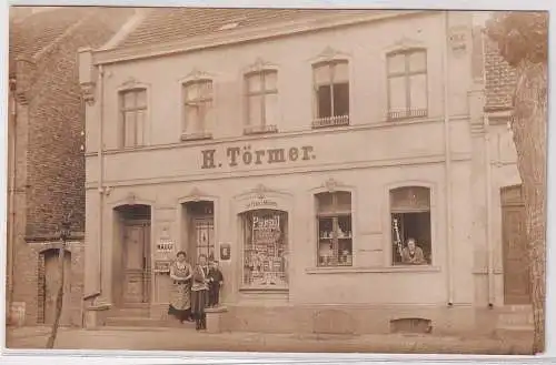
[[[105,187],[103,187],[103,178],[105,178],[105,164],[103,164],[103,120],[105,120],[105,71],[102,69],[102,64],[99,65],[99,129],[98,129],[98,169],[99,169],[99,181],[98,181],[98,192],[99,192],[99,216],[98,216],[98,250],[99,250],[99,294],[102,294],[102,236],[103,236],[103,205],[105,205]]]

